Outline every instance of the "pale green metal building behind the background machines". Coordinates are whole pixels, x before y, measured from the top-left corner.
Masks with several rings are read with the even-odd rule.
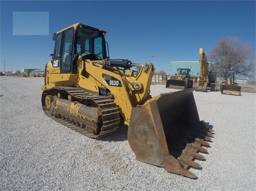
[[[178,68],[189,68],[191,76],[198,76],[200,73],[199,61],[177,61],[171,62],[170,75],[174,76],[177,74]]]

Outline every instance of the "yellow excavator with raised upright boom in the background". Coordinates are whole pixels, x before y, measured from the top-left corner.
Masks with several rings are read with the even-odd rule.
[[[200,75],[198,76],[197,83],[194,85],[195,91],[207,92],[208,86],[211,87],[211,91],[216,91],[216,72],[209,71],[203,47],[199,49],[199,65]]]

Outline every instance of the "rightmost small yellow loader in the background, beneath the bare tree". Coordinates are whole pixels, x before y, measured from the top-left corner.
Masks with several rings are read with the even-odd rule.
[[[241,86],[235,83],[235,71],[225,73],[225,81],[220,84],[220,92],[228,95],[241,95]]]

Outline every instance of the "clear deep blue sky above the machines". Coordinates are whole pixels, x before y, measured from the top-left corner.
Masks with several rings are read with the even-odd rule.
[[[157,71],[170,69],[171,61],[198,61],[199,48],[207,55],[221,37],[238,37],[255,50],[255,6],[255,1],[1,0],[0,71],[4,59],[5,71],[44,69],[54,48],[52,34],[77,22],[107,31],[111,59],[153,62]]]

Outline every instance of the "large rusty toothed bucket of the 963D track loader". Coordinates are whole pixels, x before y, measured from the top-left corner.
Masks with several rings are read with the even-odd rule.
[[[213,130],[199,120],[194,88],[161,94],[141,107],[132,108],[128,141],[136,159],[164,167],[166,171],[195,178],[187,167],[200,168],[192,161],[204,159]]]

